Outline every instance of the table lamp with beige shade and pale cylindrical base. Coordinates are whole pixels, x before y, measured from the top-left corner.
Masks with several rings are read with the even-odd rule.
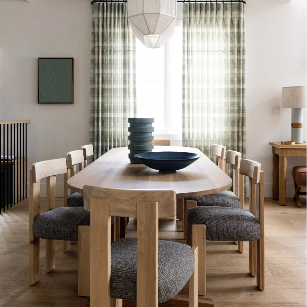
[[[306,107],[306,87],[289,86],[282,88],[282,107],[292,108],[291,141],[303,143],[303,108]]]

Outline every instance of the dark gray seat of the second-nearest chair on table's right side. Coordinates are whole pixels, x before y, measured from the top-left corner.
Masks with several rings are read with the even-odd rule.
[[[223,191],[212,195],[202,195],[196,197],[188,197],[186,200],[196,200],[197,206],[219,206],[241,208],[240,199],[231,191]]]

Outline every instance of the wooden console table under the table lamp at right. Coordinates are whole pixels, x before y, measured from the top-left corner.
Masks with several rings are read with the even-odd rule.
[[[270,142],[273,153],[273,199],[281,206],[286,206],[287,157],[306,157],[306,143],[281,145],[280,142]]]

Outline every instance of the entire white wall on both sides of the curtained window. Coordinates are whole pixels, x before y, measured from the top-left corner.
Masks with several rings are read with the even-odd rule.
[[[269,142],[291,136],[291,110],[273,116],[270,107],[281,107],[282,87],[306,85],[306,0],[247,0],[245,12],[246,152],[247,158],[262,163],[269,197]],[[28,169],[33,162],[64,157],[88,143],[90,33],[90,1],[0,0],[0,121],[31,121]],[[73,105],[37,104],[38,57],[74,57]],[[288,158],[289,197],[292,166],[300,164],[306,158]]]

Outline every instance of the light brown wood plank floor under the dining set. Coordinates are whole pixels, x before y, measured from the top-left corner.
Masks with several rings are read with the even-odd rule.
[[[46,273],[41,240],[41,277],[28,285],[28,206],[25,199],[0,216],[0,306],[89,306],[89,298],[77,294],[78,242],[63,253],[63,244],[57,241],[56,269]],[[184,242],[181,221],[162,220],[159,228],[161,238]],[[135,234],[131,220],[127,236]],[[292,199],[287,199],[286,206],[265,200],[263,291],[248,273],[248,243],[244,249],[239,254],[234,243],[208,242],[205,297],[212,298],[215,307],[306,306],[306,198],[302,197],[301,208]]]

